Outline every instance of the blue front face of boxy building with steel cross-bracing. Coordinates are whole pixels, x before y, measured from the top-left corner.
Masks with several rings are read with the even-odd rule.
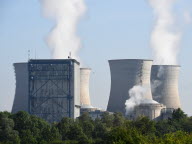
[[[49,122],[72,117],[72,60],[29,60],[28,110]]]

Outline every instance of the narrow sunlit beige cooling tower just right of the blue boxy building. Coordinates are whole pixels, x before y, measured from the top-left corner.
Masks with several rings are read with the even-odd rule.
[[[91,106],[89,96],[89,79],[90,79],[90,68],[80,69],[80,104],[81,106]]]

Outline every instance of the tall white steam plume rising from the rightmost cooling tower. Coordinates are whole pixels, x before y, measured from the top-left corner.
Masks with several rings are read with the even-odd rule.
[[[155,26],[151,34],[154,64],[176,65],[181,34],[177,30],[173,6],[176,0],[149,0]]]

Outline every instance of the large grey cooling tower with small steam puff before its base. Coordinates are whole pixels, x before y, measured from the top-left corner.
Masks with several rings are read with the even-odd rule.
[[[150,74],[152,60],[124,59],[109,60],[111,71],[111,91],[107,111],[125,114],[125,102],[133,86],[146,88],[145,98],[152,100]]]

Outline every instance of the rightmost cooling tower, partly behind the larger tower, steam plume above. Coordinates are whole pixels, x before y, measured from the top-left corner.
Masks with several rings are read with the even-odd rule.
[[[153,65],[151,86],[153,99],[167,108],[180,108],[178,78],[180,66]]]

